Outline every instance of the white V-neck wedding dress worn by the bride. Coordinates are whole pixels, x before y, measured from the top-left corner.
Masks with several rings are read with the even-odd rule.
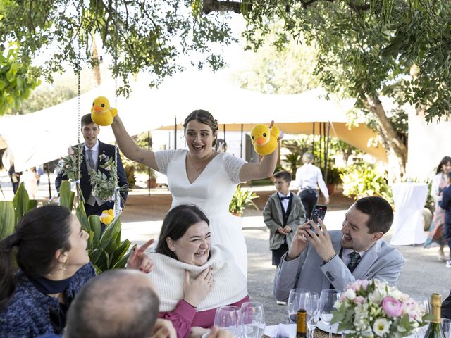
[[[240,183],[240,169],[246,162],[232,154],[220,153],[190,183],[186,173],[186,149],[156,151],[159,172],[168,176],[172,206],[195,204],[210,220],[211,244],[222,244],[247,277],[247,249],[241,219],[228,212],[228,205]]]

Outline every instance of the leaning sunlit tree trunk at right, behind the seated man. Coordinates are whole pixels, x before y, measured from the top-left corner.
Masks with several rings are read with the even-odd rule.
[[[385,113],[381,100],[366,95],[364,101],[366,108],[376,115],[378,132],[381,135],[383,145],[388,157],[388,180],[395,182],[405,176],[407,163],[407,146],[395,132],[393,125]]]

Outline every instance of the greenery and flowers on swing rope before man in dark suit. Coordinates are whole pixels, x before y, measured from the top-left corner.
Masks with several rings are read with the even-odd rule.
[[[89,180],[92,185],[92,195],[99,197],[101,201],[112,201],[115,194],[121,196],[120,193],[125,191],[127,187],[117,187],[117,168],[113,157],[100,154],[99,161],[103,162],[102,164],[99,164],[99,168],[108,171],[110,177],[107,177],[101,170],[92,170],[92,172],[89,173]]]

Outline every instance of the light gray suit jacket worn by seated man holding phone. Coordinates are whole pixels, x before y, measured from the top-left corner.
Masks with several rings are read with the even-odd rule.
[[[334,230],[329,234],[337,256],[326,264],[323,264],[323,260],[311,245],[292,261],[285,261],[285,253],[274,278],[274,296],[278,301],[287,301],[290,289],[297,287],[321,294],[322,289],[330,289],[330,284],[335,289],[343,290],[348,283],[355,280],[377,278],[386,280],[389,284],[396,283],[404,264],[400,251],[379,239],[366,251],[362,261],[351,273],[338,256],[342,233],[340,230]]]

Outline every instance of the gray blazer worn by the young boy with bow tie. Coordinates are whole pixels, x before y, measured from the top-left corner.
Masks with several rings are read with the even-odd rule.
[[[269,249],[279,249],[283,244],[285,236],[277,232],[278,227],[283,227],[282,206],[277,196],[277,192],[268,197],[265,208],[263,209],[263,220],[269,229]],[[305,223],[305,210],[301,198],[297,194],[292,194],[290,215],[288,215],[287,224],[292,232],[286,235],[287,244],[290,246],[293,234],[297,226]]]

